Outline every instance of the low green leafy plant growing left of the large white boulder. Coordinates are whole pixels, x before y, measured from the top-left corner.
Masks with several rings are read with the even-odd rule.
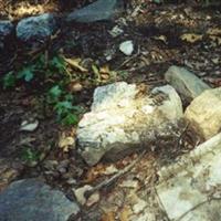
[[[73,105],[74,96],[67,91],[71,77],[62,56],[46,59],[44,54],[40,54],[22,69],[6,74],[2,83],[3,88],[10,88],[15,86],[17,82],[30,83],[34,78],[34,82],[42,86],[46,105],[53,108],[57,122],[63,125],[75,125],[81,110]]]

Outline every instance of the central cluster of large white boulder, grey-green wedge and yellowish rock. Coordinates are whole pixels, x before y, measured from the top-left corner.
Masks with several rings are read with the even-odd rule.
[[[186,120],[202,140],[221,129],[221,91],[212,90],[183,67],[166,73],[171,84],[152,91],[118,82],[97,87],[90,113],[78,124],[78,152],[93,166],[103,157],[116,160],[138,148],[172,136],[180,119]],[[176,92],[176,90],[177,92]],[[182,115],[179,95],[187,103]],[[158,101],[158,102],[157,102]]]

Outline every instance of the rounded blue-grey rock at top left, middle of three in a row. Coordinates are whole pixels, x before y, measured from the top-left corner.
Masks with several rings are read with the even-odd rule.
[[[44,13],[22,19],[17,25],[17,36],[27,43],[42,43],[57,29],[53,14]]]

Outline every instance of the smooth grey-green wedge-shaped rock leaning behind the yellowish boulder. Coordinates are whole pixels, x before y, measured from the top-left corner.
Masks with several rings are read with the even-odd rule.
[[[170,66],[165,74],[165,78],[171,84],[183,99],[191,102],[210,86],[202,82],[193,73],[183,67]]]

